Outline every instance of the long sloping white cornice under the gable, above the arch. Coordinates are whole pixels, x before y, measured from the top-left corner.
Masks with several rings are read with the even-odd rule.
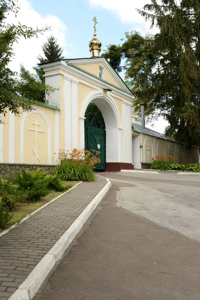
[[[67,65],[63,61],[59,61],[59,63],[57,63],[57,62],[47,63],[46,65],[44,64],[42,66],[42,68],[45,72],[60,69],[60,71],[58,72],[60,74],[64,74],[64,72],[62,73],[62,71],[61,71],[61,70],[64,70],[66,72],[70,72],[70,74],[78,76],[79,78],[81,78],[83,80],[88,81],[89,83],[93,83],[93,84],[95,84],[95,85],[97,85],[101,88],[108,88],[109,87],[116,94],[118,94],[119,96],[125,97],[126,99],[129,99],[130,101],[132,101],[132,99],[134,98],[134,96],[131,95],[130,93],[127,93],[125,91],[122,91],[122,90],[117,89],[114,86],[110,85],[111,83],[109,84],[109,83],[105,83],[103,81],[100,81],[99,79],[97,79],[97,78],[95,78],[95,77],[93,77],[93,76],[91,76],[87,73],[84,73],[84,72],[80,71],[79,69],[76,69],[72,66]],[[57,74],[57,72],[56,72],[56,74]],[[53,74],[51,74],[51,75],[53,75]],[[48,74],[46,74],[46,76],[48,76]],[[128,92],[130,92],[130,91],[128,90]]]

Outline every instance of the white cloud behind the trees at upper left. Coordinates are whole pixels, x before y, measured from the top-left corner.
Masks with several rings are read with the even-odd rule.
[[[64,49],[63,55],[69,54],[66,51],[66,25],[57,16],[52,14],[46,14],[44,16],[40,15],[33,9],[28,0],[20,0],[18,5],[20,6],[20,10],[18,11],[16,18],[14,15],[8,15],[7,23],[16,24],[17,22],[20,22],[21,24],[32,26],[34,28],[36,26],[41,28],[47,25],[51,26],[51,30],[44,32],[43,35],[39,35],[38,38],[33,37],[24,39],[21,37],[18,43],[14,43],[13,51],[15,56],[9,64],[12,70],[19,71],[19,65],[23,64],[26,69],[32,71],[32,66],[35,66],[38,62],[36,57],[39,54],[42,55],[41,45],[46,41],[50,34],[57,38],[58,44]]]

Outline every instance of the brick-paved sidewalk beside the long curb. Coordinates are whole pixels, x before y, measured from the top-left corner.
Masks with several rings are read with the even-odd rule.
[[[82,182],[0,237],[0,300],[7,300],[101,188]]]

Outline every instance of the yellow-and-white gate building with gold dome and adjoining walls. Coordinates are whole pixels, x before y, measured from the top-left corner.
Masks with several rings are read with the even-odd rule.
[[[198,162],[198,148],[184,149],[170,137],[141,126],[131,107],[133,95],[104,57],[96,34],[89,43],[91,57],[60,59],[42,64],[45,82],[57,88],[46,103],[0,124],[0,162],[54,164],[59,149],[100,151],[99,168],[106,171],[141,168],[156,154],[172,153],[179,163]],[[105,129],[85,126],[89,103],[100,110]],[[104,130],[104,131],[103,131]]]

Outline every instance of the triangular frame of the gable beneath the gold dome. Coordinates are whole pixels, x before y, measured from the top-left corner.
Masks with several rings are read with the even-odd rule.
[[[99,79],[99,80],[101,80],[101,81],[103,81],[103,82],[105,82],[105,83],[108,83],[111,86],[114,86],[115,88],[118,88],[118,89],[120,89],[120,90],[122,90],[122,91],[124,91],[124,92],[132,95],[132,91],[130,90],[129,86],[127,86],[125,84],[125,82],[123,81],[123,79],[119,76],[119,74],[111,66],[111,64],[109,63],[109,61],[105,57],[103,57],[103,56],[102,57],[87,57],[87,58],[70,58],[70,59],[64,59],[64,58],[62,58],[61,60],[62,61],[66,61],[66,63],[68,65],[71,65],[73,67],[75,67],[76,64],[79,65],[79,64],[101,62],[101,63],[104,64],[104,66],[107,68],[107,70],[111,73],[111,75],[114,77],[114,79],[117,81],[117,83],[119,84],[119,86],[121,88],[119,88],[118,86],[116,86],[116,85],[114,85],[114,84],[112,84],[112,83],[110,83],[110,82],[108,82],[108,81],[106,81],[106,80],[104,80],[104,79],[102,79],[102,78],[100,78],[100,77],[92,74],[92,73],[89,73],[88,71],[80,68],[79,66],[78,67],[76,66],[76,68],[79,69],[79,70],[81,70],[81,71],[83,71],[83,72],[85,72],[85,73],[87,73],[87,74],[89,74],[89,75],[91,75],[91,76],[93,76],[93,77],[95,77],[95,78],[97,78],[97,79]]]

